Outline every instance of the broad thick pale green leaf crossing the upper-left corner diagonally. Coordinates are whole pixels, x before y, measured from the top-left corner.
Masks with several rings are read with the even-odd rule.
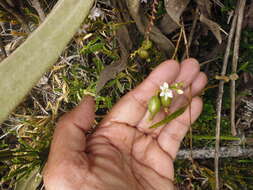
[[[0,63],[0,123],[53,65],[94,0],[60,0],[44,23]]]

